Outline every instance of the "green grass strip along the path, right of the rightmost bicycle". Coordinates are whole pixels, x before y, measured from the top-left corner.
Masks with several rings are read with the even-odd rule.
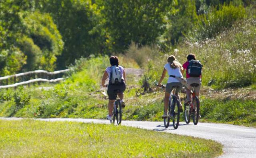
[[[256,101],[204,99],[201,116],[202,121],[256,127]]]

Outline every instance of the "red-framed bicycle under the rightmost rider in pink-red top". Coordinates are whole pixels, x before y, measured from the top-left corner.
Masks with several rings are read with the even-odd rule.
[[[200,101],[198,96],[195,95],[195,87],[199,86],[199,84],[193,83],[190,84],[191,88],[191,100],[189,103],[184,105],[184,117],[185,122],[190,123],[190,117],[192,115],[194,125],[197,125],[199,116],[200,116]]]

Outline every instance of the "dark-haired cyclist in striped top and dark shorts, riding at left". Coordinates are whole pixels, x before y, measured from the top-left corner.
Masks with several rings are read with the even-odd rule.
[[[113,111],[113,107],[114,107],[114,102],[116,99],[116,94],[117,96],[120,98],[120,102],[121,102],[121,106],[125,107],[125,103],[124,103],[124,91],[126,89],[126,77],[125,77],[125,72],[124,72],[124,68],[122,66],[119,65],[119,61],[118,61],[118,57],[116,56],[111,56],[109,58],[110,64],[111,66],[107,67],[102,80],[101,80],[101,85],[104,86],[105,85],[105,80],[108,78],[109,79],[109,84],[108,84],[108,115],[107,115],[107,119],[108,120],[112,120],[112,111]],[[111,82],[111,77],[112,75],[112,70],[118,70],[118,75],[121,78],[121,82],[119,81],[117,84],[112,84]],[[116,92],[118,91],[118,93]]]

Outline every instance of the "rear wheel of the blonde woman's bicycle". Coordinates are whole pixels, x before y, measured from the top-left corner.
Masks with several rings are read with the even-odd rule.
[[[180,102],[176,96],[173,96],[173,106],[172,106],[172,125],[174,129],[177,129],[180,122]]]

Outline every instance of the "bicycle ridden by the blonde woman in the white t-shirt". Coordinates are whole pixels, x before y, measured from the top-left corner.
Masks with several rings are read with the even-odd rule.
[[[166,86],[162,85],[161,87],[164,89]],[[173,86],[173,88],[176,89],[178,86]],[[170,119],[172,118],[172,125],[174,129],[177,129],[180,122],[180,101],[178,99],[178,94],[170,94],[167,114],[167,117],[164,118],[164,127],[166,129],[169,127]]]

